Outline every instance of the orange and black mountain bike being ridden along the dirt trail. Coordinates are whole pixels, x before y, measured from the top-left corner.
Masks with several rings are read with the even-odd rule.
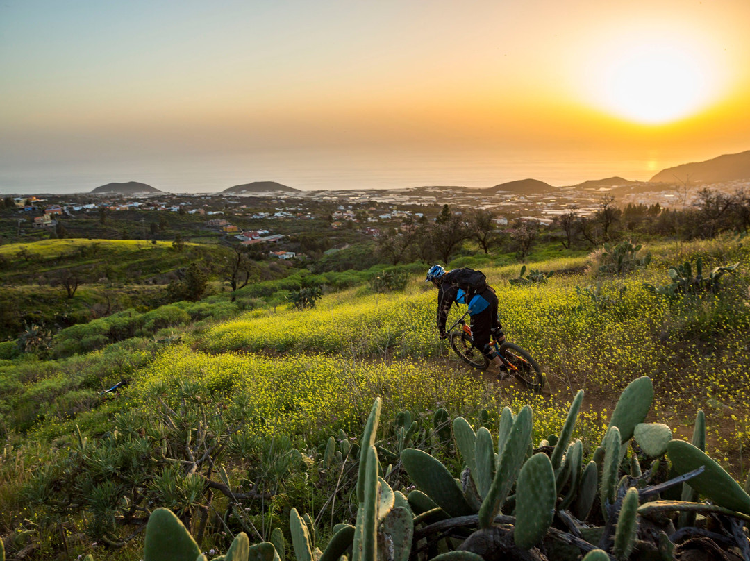
[[[448,330],[451,348],[458,355],[458,358],[466,362],[470,367],[480,371],[486,370],[490,365],[490,361],[481,353],[481,350],[475,347],[471,327],[467,326],[463,320],[466,314],[463,314]],[[458,326],[460,326],[460,329],[455,329]],[[508,341],[499,344],[494,332],[492,334],[492,343],[502,361],[498,380],[514,376],[528,389],[541,393],[541,390],[544,388],[544,374],[529,352],[517,344],[508,343]]]

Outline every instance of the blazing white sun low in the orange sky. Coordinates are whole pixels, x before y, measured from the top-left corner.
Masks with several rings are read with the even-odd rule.
[[[709,51],[680,38],[620,37],[594,55],[587,95],[607,113],[643,124],[694,115],[721,93]]]

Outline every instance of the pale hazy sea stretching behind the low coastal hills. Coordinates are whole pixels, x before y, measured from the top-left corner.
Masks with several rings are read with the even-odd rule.
[[[709,159],[712,154],[702,159]],[[691,155],[524,153],[338,153],[336,151],[212,154],[130,161],[51,162],[0,169],[0,194],[89,193],[108,183],[138,181],[166,193],[219,193],[238,184],[277,181],[303,191],[386,190],[431,185],[487,188],[533,178],[555,187],[622,177],[648,181]]]

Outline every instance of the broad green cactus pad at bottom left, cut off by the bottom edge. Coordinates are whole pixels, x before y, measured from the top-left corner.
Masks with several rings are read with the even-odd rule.
[[[145,526],[143,561],[195,561],[200,549],[169,508],[157,508]]]

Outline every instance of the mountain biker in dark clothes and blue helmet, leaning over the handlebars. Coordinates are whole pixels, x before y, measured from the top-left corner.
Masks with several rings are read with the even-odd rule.
[[[492,287],[487,285],[480,293],[469,295],[469,302],[466,302],[466,292],[455,284],[451,284],[445,279],[446,269],[440,265],[431,266],[427,272],[425,282],[431,282],[437,289],[437,329],[440,332],[440,338],[445,339],[446,320],[451,306],[454,302],[469,306],[469,317],[471,318],[471,332],[474,339],[475,347],[490,361],[487,368],[487,375],[495,377],[500,373],[502,361],[491,344],[491,335],[494,332],[495,338],[499,344],[505,342],[505,335],[502,333],[502,326],[497,320],[497,296]]]

